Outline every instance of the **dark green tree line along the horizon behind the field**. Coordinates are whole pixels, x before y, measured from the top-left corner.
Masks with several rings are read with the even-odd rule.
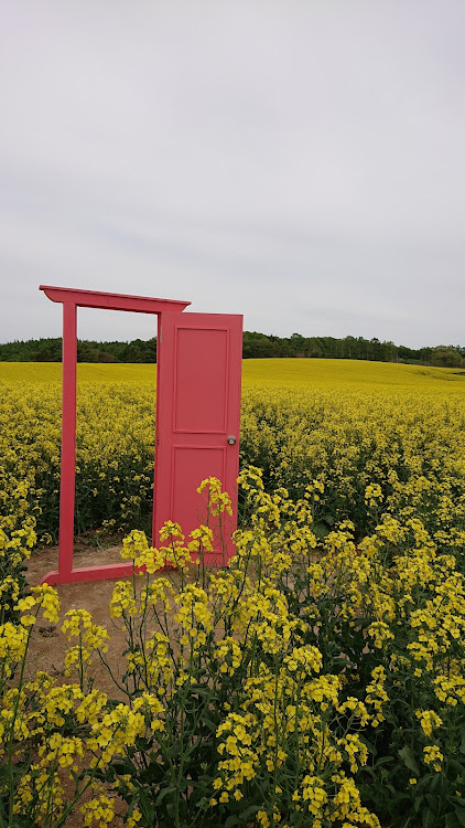
[[[275,337],[257,331],[244,332],[244,359],[313,358],[408,362],[412,364],[465,368],[465,347],[435,346],[407,348],[381,342],[376,337]],[[0,344],[2,362],[61,362],[62,339],[15,340]],[[78,340],[78,362],[156,362],[156,339],[130,342]]]

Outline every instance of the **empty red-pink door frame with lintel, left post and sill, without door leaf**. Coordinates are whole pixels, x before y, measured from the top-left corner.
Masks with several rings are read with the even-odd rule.
[[[68,584],[76,581],[99,581],[129,575],[132,564],[118,563],[101,566],[73,567],[74,505],[76,467],[76,361],[77,308],[129,310],[162,316],[164,311],[181,312],[190,301],[155,299],[145,296],[107,294],[97,290],[78,290],[67,287],[41,285],[40,290],[52,301],[63,304],[63,391],[62,391],[62,460],[60,488],[60,548],[58,569],[42,580],[48,584]]]

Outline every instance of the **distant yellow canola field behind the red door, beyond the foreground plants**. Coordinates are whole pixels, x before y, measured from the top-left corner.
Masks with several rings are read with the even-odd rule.
[[[1,363],[0,508],[58,526],[61,365]],[[79,364],[76,529],[150,526],[155,367]],[[465,375],[348,360],[244,362],[241,466],[294,499],[311,487],[324,537],[382,513],[421,519],[444,551],[465,545]],[[10,517],[11,520],[11,517]]]

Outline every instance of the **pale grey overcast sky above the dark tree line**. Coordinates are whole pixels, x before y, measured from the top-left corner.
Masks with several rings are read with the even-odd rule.
[[[0,10],[0,341],[60,336],[43,283],[465,344],[463,0]]]

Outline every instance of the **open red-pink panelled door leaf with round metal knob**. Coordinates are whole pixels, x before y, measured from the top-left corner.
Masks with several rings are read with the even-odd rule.
[[[166,520],[184,534],[206,522],[202,480],[217,477],[233,501],[226,558],[234,550],[239,470],[242,317],[162,312],[159,317],[153,543]],[[218,519],[210,519],[218,538]],[[209,563],[223,563],[217,541]]]

